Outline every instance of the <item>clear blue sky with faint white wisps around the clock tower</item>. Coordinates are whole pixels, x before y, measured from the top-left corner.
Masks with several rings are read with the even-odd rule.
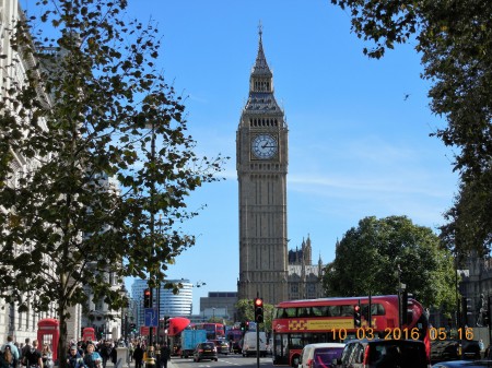
[[[236,290],[235,133],[260,21],[289,124],[290,248],[309,235],[313,257],[326,263],[335,258],[337,239],[365,216],[407,215],[431,228],[443,223],[457,175],[453,151],[429,136],[444,121],[430,112],[414,44],[367,59],[363,41],[350,33],[349,13],[329,0],[129,0],[128,13],[159,23],[159,62],[187,96],[198,153],[231,157],[226,180],[189,199],[191,210],[207,204],[186,225],[197,245],[168,270],[169,278],[207,283],[194,290],[194,312],[208,292]]]

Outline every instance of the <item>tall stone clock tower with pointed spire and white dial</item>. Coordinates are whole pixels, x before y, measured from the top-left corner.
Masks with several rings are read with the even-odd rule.
[[[288,128],[273,95],[259,29],[249,96],[236,135],[239,182],[238,298],[288,299]]]

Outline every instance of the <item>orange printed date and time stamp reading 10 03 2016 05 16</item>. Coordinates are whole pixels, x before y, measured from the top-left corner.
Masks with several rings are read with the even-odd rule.
[[[329,333],[332,334],[333,340],[345,340],[348,336],[347,329],[331,329]],[[473,340],[473,329],[465,328],[458,329],[456,334],[454,334],[458,340]],[[355,330],[355,336],[359,340],[374,340],[374,339],[384,339],[384,340],[420,340],[421,339],[421,330],[418,328],[386,328],[384,331],[375,331],[373,328],[359,328]],[[446,331],[445,328],[430,328],[429,329],[429,337],[432,341],[444,341],[450,339],[450,334]]]

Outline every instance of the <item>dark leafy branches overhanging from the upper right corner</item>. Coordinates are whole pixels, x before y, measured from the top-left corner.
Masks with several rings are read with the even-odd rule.
[[[368,57],[380,58],[395,44],[415,45],[422,56],[422,78],[432,83],[431,110],[447,120],[447,126],[433,135],[458,149],[454,168],[460,173],[464,183],[448,213],[450,223],[444,238],[462,240],[462,244],[448,245],[457,247],[458,252],[471,248],[489,253],[492,246],[492,2],[331,2],[350,10],[352,31],[358,37],[374,43],[372,48],[364,48]],[[480,192],[473,198],[462,193],[472,190]],[[478,217],[461,211],[471,206]],[[460,234],[449,234],[453,230]]]

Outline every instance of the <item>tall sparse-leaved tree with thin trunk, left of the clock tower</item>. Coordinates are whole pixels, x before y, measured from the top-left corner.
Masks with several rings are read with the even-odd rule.
[[[84,287],[118,310],[109,273],[160,285],[195,244],[180,224],[198,209],[185,200],[218,180],[223,158],[194,153],[181,97],[159,70],[159,32],[127,20],[127,1],[37,5],[11,29],[22,61],[0,91],[0,295],[24,311],[56,304],[65,367]]]

